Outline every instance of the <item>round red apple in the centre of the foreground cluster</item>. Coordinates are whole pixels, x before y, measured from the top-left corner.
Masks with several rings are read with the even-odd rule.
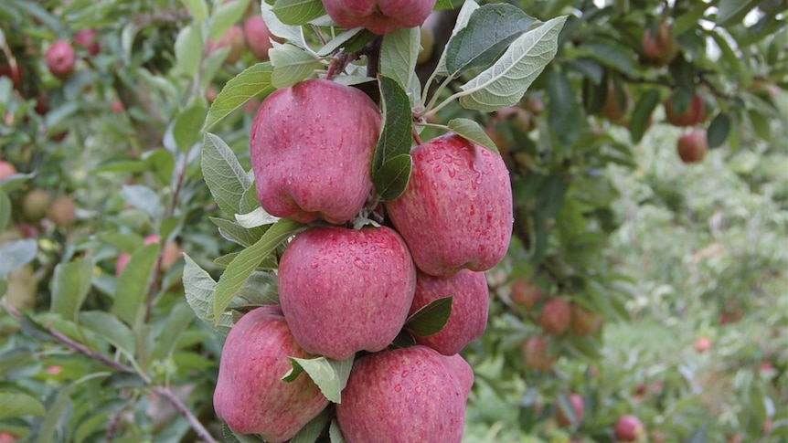
[[[314,227],[279,263],[279,300],[296,342],[335,360],[386,348],[415,289],[408,247],[389,227]]]

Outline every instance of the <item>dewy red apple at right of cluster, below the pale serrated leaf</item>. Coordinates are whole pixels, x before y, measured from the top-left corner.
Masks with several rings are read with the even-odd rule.
[[[492,269],[512,237],[512,185],[500,156],[447,134],[410,152],[405,192],[386,207],[421,271]]]

